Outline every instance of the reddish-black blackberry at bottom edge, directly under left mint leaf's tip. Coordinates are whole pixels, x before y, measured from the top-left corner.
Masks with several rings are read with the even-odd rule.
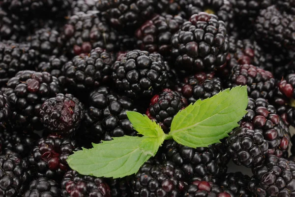
[[[103,178],[68,170],[61,180],[61,194],[63,197],[111,197],[111,190]]]

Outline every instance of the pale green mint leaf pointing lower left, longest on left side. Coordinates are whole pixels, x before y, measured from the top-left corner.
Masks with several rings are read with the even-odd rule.
[[[163,137],[114,137],[111,141],[93,144],[70,155],[69,166],[80,174],[96,177],[121,178],[136,173],[139,168],[155,156]]]

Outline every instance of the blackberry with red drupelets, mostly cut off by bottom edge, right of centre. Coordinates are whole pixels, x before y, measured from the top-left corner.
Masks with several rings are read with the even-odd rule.
[[[207,181],[194,181],[181,197],[236,197],[232,191]]]

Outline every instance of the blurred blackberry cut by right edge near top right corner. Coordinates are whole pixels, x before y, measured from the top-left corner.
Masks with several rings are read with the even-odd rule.
[[[280,50],[295,47],[295,20],[293,15],[280,13],[275,6],[260,11],[256,19],[255,35],[266,47],[278,47]]]

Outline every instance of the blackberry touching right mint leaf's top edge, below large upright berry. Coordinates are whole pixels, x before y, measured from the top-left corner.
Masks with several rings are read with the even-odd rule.
[[[213,73],[198,72],[184,78],[183,82],[177,85],[176,90],[190,104],[198,99],[207,99],[217,95],[223,90],[223,82],[220,78],[214,77]]]

